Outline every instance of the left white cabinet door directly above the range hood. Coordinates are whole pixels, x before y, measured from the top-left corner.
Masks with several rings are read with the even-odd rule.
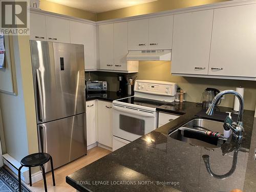
[[[132,20],[128,22],[128,49],[148,49],[148,19]]]

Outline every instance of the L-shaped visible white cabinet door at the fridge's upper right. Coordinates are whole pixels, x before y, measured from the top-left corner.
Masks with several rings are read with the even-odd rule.
[[[85,69],[97,69],[96,26],[70,21],[71,44],[83,44]]]

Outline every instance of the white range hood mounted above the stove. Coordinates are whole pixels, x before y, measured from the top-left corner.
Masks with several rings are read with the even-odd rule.
[[[171,58],[172,58],[171,50],[128,51],[128,54],[127,54],[127,60],[170,61]]]

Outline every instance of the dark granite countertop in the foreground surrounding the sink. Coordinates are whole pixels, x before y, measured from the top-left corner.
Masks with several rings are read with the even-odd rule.
[[[79,191],[204,192],[234,188],[256,191],[256,118],[253,111],[244,112],[245,133],[237,153],[236,169],[226,179],[217,179],[207,172],[202,156],[209,155],[210,168],[222,175],[231,168],[233,152],[223,155],[221,147],[209,151],[168,137],[170,130],[196,118],[201,108],[196,103],[184,102],[176,107],[175,104],[163,105],[158,110],[182,116],[77,170],[66,177],[67,183]],[[231,109],[219,107],[219,110]]]

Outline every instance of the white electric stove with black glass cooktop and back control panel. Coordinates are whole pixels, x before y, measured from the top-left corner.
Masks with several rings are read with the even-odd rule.
[[[134,96],[113,101],[113,151],[155,130],[156,108],[174,102],[177,84],[136,80]]]

